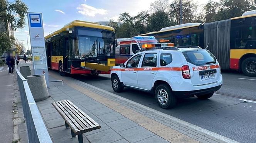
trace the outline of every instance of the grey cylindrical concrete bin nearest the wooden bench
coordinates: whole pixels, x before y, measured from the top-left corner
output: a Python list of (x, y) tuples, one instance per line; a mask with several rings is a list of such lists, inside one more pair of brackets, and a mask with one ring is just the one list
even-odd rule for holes
[(44, 75), (27, 76), (27, 82), (35, 101), (41, 101), (48, 98), (49, 93)]

